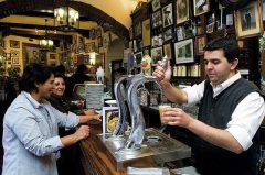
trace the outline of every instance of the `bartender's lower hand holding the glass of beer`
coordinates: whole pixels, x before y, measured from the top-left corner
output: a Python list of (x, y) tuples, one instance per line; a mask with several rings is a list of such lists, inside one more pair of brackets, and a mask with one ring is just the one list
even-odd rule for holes
[(194, 119), (180, 108), (165, 108), (163, 120), (167, 121), (169, 125), (188, 128)]

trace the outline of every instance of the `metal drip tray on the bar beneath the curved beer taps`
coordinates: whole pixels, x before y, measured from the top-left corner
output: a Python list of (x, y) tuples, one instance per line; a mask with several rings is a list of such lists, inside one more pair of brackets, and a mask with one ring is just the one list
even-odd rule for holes
[(191, 156), (191, 149), (153, 128), (146, 129), (145, 139), (139, 149), (124, 149), (128, 135), (113, 136), (98, 134), (109, 158), (116, 164), (117, 171), (134, 165), (145, 158), (153, 158), (156, 163), (178, 161)]

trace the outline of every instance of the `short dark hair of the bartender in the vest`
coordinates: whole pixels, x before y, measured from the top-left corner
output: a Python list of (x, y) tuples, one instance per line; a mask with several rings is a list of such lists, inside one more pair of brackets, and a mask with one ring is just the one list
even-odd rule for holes
[(237, 41), (232, 37), (218, 37), (210, 41), (204, 51), (215, 51), (223, 50), (224, 56), (227, 58), (229, 63), (233, 62), (235, 58), (239, 58), (240, 47)]

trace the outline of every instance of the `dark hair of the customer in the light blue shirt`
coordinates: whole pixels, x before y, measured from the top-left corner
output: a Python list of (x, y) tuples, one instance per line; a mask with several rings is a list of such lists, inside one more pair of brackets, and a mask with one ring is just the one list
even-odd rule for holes
[(30, 64), (24, 68), (19, 80), (19, 91), (38, 92), (35, 84), (44, 84), (52, 75), (52, 69), (40, 64)]

